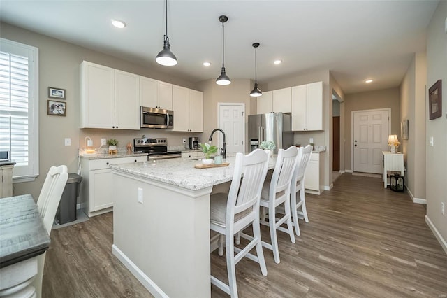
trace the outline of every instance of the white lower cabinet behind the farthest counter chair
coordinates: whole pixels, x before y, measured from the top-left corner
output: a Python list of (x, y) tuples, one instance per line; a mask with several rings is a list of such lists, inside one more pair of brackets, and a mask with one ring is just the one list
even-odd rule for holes
[(312, 152), (305, 173), (305, 191), (321, 194), (324, 191), (324, 155), (323, 152)]

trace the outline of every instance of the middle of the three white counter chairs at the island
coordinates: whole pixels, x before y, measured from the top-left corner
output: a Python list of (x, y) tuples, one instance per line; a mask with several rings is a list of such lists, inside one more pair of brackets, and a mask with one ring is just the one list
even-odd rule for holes
[[(261, 214), (261, 223), (270, 227), (271, 244), (263, 241), (263, 246), (273, 250), (274, 262), (279, 264), (279, 250), (277, 229), (286, 232), (291, 236), (292, 243), (295, 243), (295, 235), (293, 234), (291, 220), (291, 180), (292, 173), (295, 170), (297, 162), (298, 150), (295, 146), (291, 146), (287, 150), (279, 149), (277, 163), (274, 166), (272, 179), (265, 181), (261, 192), (261, 206), (263, 213)], [(282, 218), (276, 218), (276, 209), (284, 204), (285, 215)], [(265, 208), (268, 208), (268, 222), (265, 221)], [(286, 222), (287, 229), (281, 227)]]

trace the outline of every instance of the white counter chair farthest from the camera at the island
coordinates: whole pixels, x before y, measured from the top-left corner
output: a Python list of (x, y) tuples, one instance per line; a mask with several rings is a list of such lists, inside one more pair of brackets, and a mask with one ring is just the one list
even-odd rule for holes
[[(292, 183), (291, 183), (291, 212), (293, 225), (295, 225), (295, 233), (300, 236), (300, 226), (298, 224), (298, 218), (303, 218), (305, 222), (309, 222), (306, 209), (306, 194), (305, 194), (305, 172), (309, 159), (312, 155), (312, 146), (307, 145), (304, 148), (300, 148), (298, 152), (298, 162), (293, 171)], [(300, 192), (300, 201), (297, 203), (297, 192)], [(301, 209), (301, 211), (300, 211)]]

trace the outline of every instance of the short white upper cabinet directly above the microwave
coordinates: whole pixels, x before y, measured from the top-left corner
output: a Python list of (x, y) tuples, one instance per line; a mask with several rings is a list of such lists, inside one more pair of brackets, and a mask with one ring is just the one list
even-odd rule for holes
[(173, 109), (173, 85), (140, 77), (140, 106)]

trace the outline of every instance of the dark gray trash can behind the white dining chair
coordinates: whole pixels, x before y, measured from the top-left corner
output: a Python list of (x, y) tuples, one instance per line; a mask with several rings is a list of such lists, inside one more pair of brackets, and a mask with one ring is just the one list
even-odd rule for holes
[(82, 176), (76, 173), (68, 174), (68, 180), (56, 213), (56, 220), (60, 225), (76, 220), (76, 201), (79, 196), (81, 181)]

